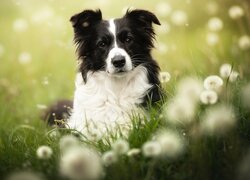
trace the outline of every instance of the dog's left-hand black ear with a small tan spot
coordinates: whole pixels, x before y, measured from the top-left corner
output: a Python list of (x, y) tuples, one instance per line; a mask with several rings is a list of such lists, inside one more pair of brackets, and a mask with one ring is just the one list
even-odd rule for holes
[(102, 20), (102, 12), (100, 9), (93, 10), (84, 10), (81, 13), (75, 14), (70, 18), (70, 22), (74, 28), (82, 27), (88, 28), (91, 25), (95, 24)]

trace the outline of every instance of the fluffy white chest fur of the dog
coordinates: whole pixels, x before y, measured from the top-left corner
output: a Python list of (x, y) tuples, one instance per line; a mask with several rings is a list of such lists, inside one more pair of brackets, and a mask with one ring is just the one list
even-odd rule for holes
[(105, 133), (117, 125), (129, 125), (129, 115), (142, 103), (151, 87), (147, 70), (142, 66), (122, 77), (110, 76), (106, 72), (89, 72), (86, 84), (78, 74), (68, 125), (84, 134), (91, 133), (91, 129)]

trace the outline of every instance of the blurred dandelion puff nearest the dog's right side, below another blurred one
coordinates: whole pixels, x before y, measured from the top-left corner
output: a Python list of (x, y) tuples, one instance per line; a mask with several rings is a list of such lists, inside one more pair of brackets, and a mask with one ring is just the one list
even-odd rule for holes
[(196, 104), (189, 98), (176, 97), (164, 109), (166, 120), (172, 124), (190, 123), (194, 120)]

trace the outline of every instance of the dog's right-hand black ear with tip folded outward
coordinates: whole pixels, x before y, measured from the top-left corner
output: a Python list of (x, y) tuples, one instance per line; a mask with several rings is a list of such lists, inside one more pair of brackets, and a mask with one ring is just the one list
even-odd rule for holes
[(125, 17), (137, 21), (140, 24), (144, 24), (144, 25), (149, 25), (152, 26), (152, 24), (157, 24), (157, 25), (161, 25), (160, 21), (158, 20), (158, 18), (149, 11), (146, 10), (140, 10), (140, 9), (136, 9), (136, 10), (127, 10), (127, 13), (125, 14)]

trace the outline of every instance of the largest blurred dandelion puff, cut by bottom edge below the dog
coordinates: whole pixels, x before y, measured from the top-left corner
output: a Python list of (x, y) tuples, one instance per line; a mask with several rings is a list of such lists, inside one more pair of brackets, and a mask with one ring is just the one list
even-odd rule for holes
[(87, 147), (75, 147), (64, 153), (60, 172), (70, 179), (98, 179), (102, 175), (101, 158)]

